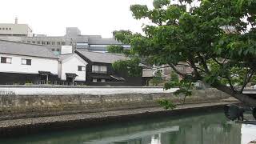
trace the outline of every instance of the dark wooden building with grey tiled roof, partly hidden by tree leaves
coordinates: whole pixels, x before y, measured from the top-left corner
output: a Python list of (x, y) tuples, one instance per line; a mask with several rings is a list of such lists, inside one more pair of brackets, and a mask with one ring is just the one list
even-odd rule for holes
[(74, 52), (88, 63), (86, 65), (87, 85), (142, 86), (142, 76), (130, 77), (112, 67), (114, 62), (129, 59), (124, 55), (90, 50), (75, 50)]

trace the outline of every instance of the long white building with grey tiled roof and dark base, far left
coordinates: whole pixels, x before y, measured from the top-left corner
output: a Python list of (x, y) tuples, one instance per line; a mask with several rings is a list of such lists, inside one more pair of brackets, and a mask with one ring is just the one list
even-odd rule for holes
[(46, 46), (0, 40), (0, 83), (44, 83), (58, 78), (58, 57)]

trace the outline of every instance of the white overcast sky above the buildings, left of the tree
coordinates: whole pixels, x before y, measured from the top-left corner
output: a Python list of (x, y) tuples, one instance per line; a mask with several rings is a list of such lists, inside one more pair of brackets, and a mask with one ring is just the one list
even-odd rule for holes
[(82, 34), (111, 38), (114, 30), (141, 32), (143, 22), (134, 20), (132, 4), (152, 6), (153, 0), (3, 0), (0, 22), (27, 23), (34, 34), (64, 35), (66, 27)]

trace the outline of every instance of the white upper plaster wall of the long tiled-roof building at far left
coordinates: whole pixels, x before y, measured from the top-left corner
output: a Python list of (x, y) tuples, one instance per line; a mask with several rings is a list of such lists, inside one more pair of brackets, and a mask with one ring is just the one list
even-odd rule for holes
[[(0, 72), (38, 74), (38, 71), (50, 71), (52, 74), (58, 74), (58, 59), (13, 54), (0, 54), (0, 57), (12, 58), (11, 64), (0, 62)], [(31, 65), (22, 65), (22, 58), (31, 59)]]

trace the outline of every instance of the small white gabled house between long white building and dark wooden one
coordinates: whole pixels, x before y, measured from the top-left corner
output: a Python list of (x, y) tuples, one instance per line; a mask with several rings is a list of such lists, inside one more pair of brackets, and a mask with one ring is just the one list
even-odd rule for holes
[(86, 65), (88, 63), (78, 54), (59, 55), (58, 78), (72, 85), (74, 82), (86, 83)]

